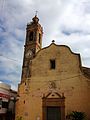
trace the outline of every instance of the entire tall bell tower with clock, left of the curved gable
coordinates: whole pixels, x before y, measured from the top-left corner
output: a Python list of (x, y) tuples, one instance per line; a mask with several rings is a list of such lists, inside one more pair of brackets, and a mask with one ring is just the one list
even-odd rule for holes
[(42, 48), (43, 28), (39, 24), (39, 18), (35, 15), (32, 21), (27, 24), (26, 41), (24, 46), (24, 58), (22, 67), (22, 80), (31, 76), (31, 61), (36, 53)]

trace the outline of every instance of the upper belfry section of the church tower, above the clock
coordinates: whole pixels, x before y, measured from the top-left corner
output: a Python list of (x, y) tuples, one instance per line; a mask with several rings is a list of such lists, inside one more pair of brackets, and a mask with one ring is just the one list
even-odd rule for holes
[(32, 18), (32, 22), (27, 24), (26, 28), (26, 43), (27, 49), (31, 49), (33, 55), (35, 55), (42, 47), (42, 34), (43, 30), (39, 24), (39, 18), (35, 15)]

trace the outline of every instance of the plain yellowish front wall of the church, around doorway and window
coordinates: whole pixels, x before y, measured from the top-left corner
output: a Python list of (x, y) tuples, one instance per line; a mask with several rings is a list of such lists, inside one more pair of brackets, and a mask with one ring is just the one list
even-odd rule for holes
[[(56, 69), (50, 69), (50, 59), (55, 59)], [(42, 49), (32, 60), (31, 77), (19, 85), (16, 102), (16, 118), (42, 120), (42, 96), (51, 90), (65, 95), (65, 113), (77, 110), (85, 112), (90, 119), (90, 82), (81, 72), (79, 54), (64, 45), (52, 43)], [(54, 81), (56, 88), (51, 89)]]

